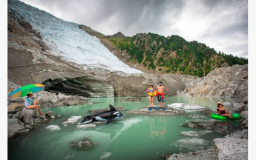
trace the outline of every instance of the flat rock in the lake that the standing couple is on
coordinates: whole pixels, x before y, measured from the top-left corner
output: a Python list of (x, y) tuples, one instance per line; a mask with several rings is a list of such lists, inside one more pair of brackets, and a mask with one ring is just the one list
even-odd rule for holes
[(137, 110), (129, 110), (126, 113), (131, 113), (131, 114), (137, 114), (137, 115), (160, 115), (160, 116), (175, 116), (175, 115), (182, 115), (186, 113), (186, 111), (183, 110), (175, 110), (171, 108), (166, 108), (166, 110), (148, 110), (148, 107), (142, 107)]

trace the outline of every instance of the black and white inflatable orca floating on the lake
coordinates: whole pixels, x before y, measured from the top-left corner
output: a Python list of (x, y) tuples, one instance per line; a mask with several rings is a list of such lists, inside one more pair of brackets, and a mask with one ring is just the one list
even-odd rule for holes
[(93, 116), (91, 115), (85, 116), (84, 119), (81, 121), (81, 124), (88, 124), (88, 123), (91, 123), (92, 121), (107, 121), (106, 124), (110, 124), (116, 119), (124, 118), (123, 114), (120, 111), (116, 110), (114, 106), (109, 104), (109, 107), (111, 110), (97, 113)]

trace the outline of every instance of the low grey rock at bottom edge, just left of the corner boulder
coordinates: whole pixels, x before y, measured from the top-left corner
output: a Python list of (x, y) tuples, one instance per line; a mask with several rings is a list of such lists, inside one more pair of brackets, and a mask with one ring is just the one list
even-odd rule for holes
[(190, 153), (174, 153), (171, 156), (168, 157), (167, 160), (203, 160), (203, 159), (217, 159), (216, 154), (214, 153), (214, 150), (208, 149), (208, 150), (200, 150), (196, 152), (190, 152)]

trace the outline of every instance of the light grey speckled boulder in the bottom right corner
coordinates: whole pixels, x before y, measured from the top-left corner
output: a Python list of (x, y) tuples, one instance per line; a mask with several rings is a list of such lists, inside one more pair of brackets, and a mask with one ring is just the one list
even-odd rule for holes
[(248, 159), (247, 139), (214, 139), (212, 144), (217, 159)]

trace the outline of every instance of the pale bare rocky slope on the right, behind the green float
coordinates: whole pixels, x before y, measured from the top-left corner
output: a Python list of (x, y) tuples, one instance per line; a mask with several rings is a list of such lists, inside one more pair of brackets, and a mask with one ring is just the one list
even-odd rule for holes
[(247, 99), (248, 65), (234, 65), (212, 70), (206, 77), (191, 81), (178, 96), (226, 96)]

